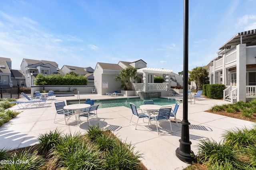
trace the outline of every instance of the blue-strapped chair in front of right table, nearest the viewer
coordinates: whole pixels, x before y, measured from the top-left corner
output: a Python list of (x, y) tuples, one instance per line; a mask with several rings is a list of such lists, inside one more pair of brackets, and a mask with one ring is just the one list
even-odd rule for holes
[(158, 114), (157, 115), (150, 113), (150, 118), (149, 118), (149, 121), (148, 121), (148, 126), (149, 126), (149, 123), (151, 124), (151, 119), (156, 121), (156, 131), (157, 131), (157, 134), (159, 135), (157, 122), (168, 120), (168, 121), (170, 121), (170, 127), (171, 127), (171, 131), (172, 131), (172, 123), (171, 123), (171, 120), (170, 120), (171, 111), (172, 111), (172, 107), (168, 106), (168, 107), (161, 107), (158, 110)]

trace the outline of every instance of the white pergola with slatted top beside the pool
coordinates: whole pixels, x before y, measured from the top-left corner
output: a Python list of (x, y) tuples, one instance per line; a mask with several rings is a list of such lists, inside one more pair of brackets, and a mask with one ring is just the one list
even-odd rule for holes
[[(148, 75), (149, 74), (166, 74), (168, 75), (168, 90), (171, 88), (171, 73), (172, 70), (170, 69), (163, 69), (163, 68), (140, 68), (137, 70), (138, 74), (143, 74), (143, 87), (146, 88), (148, 86)], [(154, 78), (154, 77), (153, 77)], [(146, 89), (143, 89), (143, 91), (146, 91)]]

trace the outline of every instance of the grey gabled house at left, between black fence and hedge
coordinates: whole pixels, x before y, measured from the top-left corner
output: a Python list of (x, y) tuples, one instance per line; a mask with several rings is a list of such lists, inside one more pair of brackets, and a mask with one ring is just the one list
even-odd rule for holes
[(54, 61), (45, 60), (33, 60), (33, 59), (23, 59), (20, 65), (20, 69), (25, 75), (25, 82), (27, 87), (33, 85), (34, 78), (37, 74), (62, 74), (64, 73), (58, 68), (58, 64)]

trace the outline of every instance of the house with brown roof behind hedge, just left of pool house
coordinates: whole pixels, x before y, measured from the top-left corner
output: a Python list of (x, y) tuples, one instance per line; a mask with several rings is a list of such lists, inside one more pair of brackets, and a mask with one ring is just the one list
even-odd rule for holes
[(75, 72), (78, 75), (85, 76), (88, 79), (87, 85), (94, 85), (94, 69), (92, 67), (76, 67), (76, 66), (68, 66), (64, 65), (61, 68), (64, 74), (69, 73), (70, 71)]

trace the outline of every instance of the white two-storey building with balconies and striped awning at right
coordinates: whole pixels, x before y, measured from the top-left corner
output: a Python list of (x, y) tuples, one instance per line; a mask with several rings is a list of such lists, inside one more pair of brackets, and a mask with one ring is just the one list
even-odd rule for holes
[(210, 84), (225, 84), (230, 102), (256, 98), (256, 29), (237, 33), (211, 61)]

